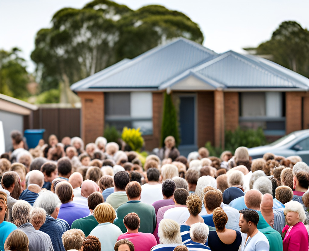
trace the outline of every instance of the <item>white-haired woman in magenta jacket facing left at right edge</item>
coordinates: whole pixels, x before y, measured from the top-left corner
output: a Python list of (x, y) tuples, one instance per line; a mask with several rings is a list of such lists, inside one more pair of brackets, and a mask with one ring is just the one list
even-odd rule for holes
[(297, 201), (287, 202), (284, 208), (287, 225), (283, 228), (283, 251), (308, 251), (308, 232), (303, 224), (306, 220), (302, 204)]

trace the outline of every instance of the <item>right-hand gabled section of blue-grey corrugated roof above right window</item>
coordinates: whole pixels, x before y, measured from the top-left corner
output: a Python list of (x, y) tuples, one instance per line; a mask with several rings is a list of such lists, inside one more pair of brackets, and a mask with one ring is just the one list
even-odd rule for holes
[(269, 60), (227, 51), (196, 67), (193, 72), (210, 78), (225, 88), (302, 88), (309, 80)]

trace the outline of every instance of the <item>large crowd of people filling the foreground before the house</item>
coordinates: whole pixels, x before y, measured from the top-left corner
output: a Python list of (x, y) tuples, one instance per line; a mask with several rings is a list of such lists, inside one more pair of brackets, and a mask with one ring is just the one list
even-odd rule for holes
[(0, 251), (308, 251), (309, 167), (299, 156), (143, 158), (98, 137), (34, 149), (18, 131), (0, 158)]

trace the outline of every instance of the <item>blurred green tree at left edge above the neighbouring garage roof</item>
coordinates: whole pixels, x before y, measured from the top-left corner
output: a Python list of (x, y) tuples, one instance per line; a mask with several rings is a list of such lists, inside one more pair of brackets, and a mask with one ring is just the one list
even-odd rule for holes
[(0, 50), (0, 93), (24, 98), (28, 96), (27, 84), (29, 82), (25, 60), (19, 56), (20, 50)]

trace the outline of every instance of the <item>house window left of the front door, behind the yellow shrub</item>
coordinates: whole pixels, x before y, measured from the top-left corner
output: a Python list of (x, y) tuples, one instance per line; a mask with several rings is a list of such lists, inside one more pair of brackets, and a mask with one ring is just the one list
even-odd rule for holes
[(105, 123), (122, 131), (123, 127), (140, 128), (152, 134), (152, 93), (104, 93)]

